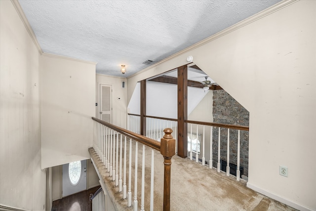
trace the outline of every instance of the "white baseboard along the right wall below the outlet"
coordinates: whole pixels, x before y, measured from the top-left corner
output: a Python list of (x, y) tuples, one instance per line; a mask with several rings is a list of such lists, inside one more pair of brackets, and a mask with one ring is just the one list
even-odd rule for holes
[(265, 195), (267, 197), (270, 197), (270, 198), (272, 198), (272, 199), (274, 199), (276, 201), (279, 201), (279, 202), (281, 202), (283, 204), (286, 204), (286, 205), (288, 205), (288, 206), (290, 206), (292, 208), (295, 208), (297, 210), (300, 210), (300, 211), (315, 211), (312, 208), (308, 208), (308, 207), (305, 207), (303, 205), (297, 204), (297, 203), (295, 203), (295, 202), (293, 202), (293, 201), (291, 201), (289, 199), (286, 199), (286, 198), (281, 197), (281, 196), (279, 196), (277, 194), (271, 193), (271, 192), (269, 192), (269, 191), (267, 191), (265, 189), (259, 188), (259, 187), (255, 186), (255, 185), (253, 185), (253, 184), (251, 184), (249, 182), (247, 182), (247, 187), (252, 189), (252, 190), (254, 190), (254, 191), (257, 191), (257, 192), (259, 192), (259, 193), (261, 193), (261, 194), (263, 194), (263, 195)]

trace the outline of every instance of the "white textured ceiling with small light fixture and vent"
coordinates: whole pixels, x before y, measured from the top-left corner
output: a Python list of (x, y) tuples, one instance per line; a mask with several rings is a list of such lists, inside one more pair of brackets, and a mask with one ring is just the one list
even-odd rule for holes
[[(45, 53), (128, 77), (280, 0), (19, 0)], [(155, 63), (154, 62), (154, 63)], [(152, 63), (152, 64), (154, 64)], [(126, 74), (120, 65), (126, 65)]]

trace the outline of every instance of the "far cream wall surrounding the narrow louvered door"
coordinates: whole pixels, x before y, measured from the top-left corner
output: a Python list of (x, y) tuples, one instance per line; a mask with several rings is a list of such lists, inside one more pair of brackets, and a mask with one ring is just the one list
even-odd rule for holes
[[(96, 101), (99, 103), (99, 84), (112, 85), (112, 124), (118, 127), (127, 127), (127, 82), (126, 78), (106, 76), (96, 74)], [(122, 87), (122, 82), (125, 83), (125, 87)], [(118, 100), (120, 97), (120, 100)], [(96, 117), (98, 117), (98, 106), (96, 107)]]

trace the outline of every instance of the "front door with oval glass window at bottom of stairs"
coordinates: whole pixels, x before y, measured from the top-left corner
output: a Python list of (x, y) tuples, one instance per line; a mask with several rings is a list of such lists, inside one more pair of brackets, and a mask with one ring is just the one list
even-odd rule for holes
[(62, 197), (87, 189), (87, 161), (64, 164), (62, 170)]

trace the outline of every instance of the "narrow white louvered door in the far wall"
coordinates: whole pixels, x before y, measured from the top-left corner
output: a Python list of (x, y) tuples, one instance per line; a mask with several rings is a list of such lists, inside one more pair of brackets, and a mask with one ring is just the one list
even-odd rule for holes
[(112, 85), (100, 84), (99, 119), (112, 123)]

